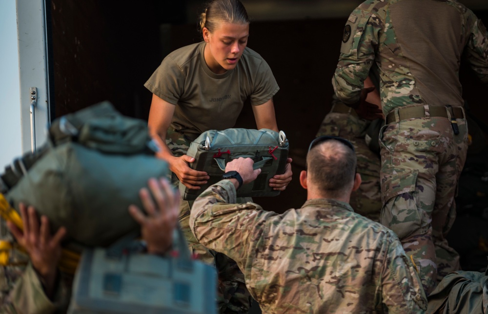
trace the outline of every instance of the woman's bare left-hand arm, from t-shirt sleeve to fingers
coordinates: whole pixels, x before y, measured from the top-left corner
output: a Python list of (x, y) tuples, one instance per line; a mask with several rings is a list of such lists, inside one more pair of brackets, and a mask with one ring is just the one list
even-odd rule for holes
[(149, 110), (148, 127), (151, 136), (158, 142), (161, 148), (157, 156), (169, 164), (178, 179), (190, 189), (200, 189), (199, 185), (206, 183), (209, 176), (204, 171), (193, 170), (188, 163), (195, 161), (195, 158), (183, 155), (176, 157), (166, 145), (166, 133), (175, 112), (175, 105), (168, 103), (153, 94), (151, 109)]

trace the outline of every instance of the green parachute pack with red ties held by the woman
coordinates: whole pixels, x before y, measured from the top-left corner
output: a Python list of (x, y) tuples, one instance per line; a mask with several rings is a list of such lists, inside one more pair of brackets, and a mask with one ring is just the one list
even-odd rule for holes
[(269, 186), (269, 179), (285, 172), (288, 150), (283, 131), (240, 128), (205, 131), (190, 143), (186, 154), (195, 158), (190, 167), (205, 171), (210, 179), (198, 190), (180, 183), (180, 193), (184, 200), (195, 200), (207, 187), (222, 179), (228, 162), (248, 157), (254, 160), (254, 169), (261, 168), (261, 173), (253, 182), (241, 186), (237, 197), (276, 196), (280, 191)]

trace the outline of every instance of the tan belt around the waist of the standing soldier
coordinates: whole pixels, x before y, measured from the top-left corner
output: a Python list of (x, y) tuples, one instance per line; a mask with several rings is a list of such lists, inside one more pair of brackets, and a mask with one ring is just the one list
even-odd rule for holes
[[(424, 106), (415, 106), (407, 108), (399, 108), (391, 111), (386, 115), (386, 124), (397, 121), (395, 118), (395, 112), (398, 112), (398, 121), (413, 119), (413, 118), (428, 118), (428, 117), (444, 117), (455, 119), (466, 118), (464, 110), (462, 107), (451, 107), (451, 106), (428, 106), (428, 116), (426, 115), (426, 108)], [(447, 115), (449, 111), (450, 116)]]

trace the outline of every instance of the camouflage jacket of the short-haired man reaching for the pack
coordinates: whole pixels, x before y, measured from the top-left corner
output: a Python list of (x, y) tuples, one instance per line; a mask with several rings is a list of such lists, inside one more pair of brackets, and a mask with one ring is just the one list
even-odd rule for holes
[(427, 297), (395, 234), (329, 199), (283, 214), (236, 204), (224, 180), (195, 201), (190, 227), (234, 259), (263, 313), (423, 313)]

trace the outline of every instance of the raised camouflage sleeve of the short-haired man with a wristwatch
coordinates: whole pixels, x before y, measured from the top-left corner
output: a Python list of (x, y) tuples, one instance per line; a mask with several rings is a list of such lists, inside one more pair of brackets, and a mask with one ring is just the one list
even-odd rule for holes
[(235, 202), (236, 190), (229, 180), (208, 187), (193, 204), (190, 228), (205, 247), (224, 253), (242, 266), (253, 229), (264, 221), (266, 212), (255, 203)]

